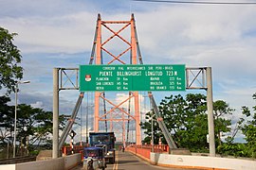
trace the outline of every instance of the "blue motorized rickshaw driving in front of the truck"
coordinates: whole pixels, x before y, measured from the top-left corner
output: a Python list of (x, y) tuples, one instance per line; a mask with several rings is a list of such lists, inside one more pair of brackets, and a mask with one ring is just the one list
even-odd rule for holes
[(83, 168), (104, 170), (106, 168), (104, 154), (104, 148), (102, 147), (85, 147), (83, 149)]

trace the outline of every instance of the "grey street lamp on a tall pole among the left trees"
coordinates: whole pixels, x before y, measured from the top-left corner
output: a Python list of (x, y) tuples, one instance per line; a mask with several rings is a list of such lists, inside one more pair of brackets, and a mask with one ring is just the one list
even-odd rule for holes
[(27, 81), (17, 81), (15, 84), (15, 116), (14, 116), (14, 139), (13, 139), (13, 158), (15, 158), (16, 155), (16, 122), (17, 122), (17, 103), (18, 103), (18, 85), (19, 84), (27, 84), (30, 83), (29, 80)]

